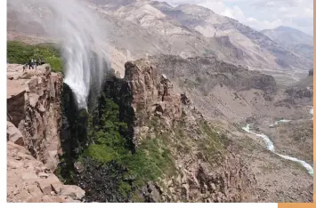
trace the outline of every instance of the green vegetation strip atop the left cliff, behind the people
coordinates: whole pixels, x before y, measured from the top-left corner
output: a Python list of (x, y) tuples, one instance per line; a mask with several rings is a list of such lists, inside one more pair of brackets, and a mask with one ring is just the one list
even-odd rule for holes
[(7, 60), (10, 63), (25, 64), (30, 59), (42, 59), (55, 72), (62, 72), (61, 52), (53, 44), (24, 44), (19, 41), (7, 42)]

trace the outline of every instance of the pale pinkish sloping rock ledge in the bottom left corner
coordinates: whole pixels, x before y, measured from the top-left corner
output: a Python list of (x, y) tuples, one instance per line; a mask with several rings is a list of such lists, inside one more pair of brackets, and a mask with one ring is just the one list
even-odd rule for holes
[(85, 191), (62, 182), (17, 144), (7, 143), (7, 201), (15, 203), (81, 202)]

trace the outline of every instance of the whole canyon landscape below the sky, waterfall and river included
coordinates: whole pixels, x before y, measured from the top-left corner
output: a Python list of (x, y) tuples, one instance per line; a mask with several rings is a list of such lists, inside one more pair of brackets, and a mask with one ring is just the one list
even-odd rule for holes
[(193, 4), (72, 4), (8, 3), (8, 202), (312, 202), (309, 36)]

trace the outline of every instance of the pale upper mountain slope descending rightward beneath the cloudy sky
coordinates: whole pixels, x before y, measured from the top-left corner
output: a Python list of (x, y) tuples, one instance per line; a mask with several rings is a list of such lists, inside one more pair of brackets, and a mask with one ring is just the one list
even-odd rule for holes
[(306, 64), (301, 57), (288, 52), (262, 33), (202, 6), (182, 4), (173, 8), (159, 2), (153, 2), (152, 5), (204, 36), (229, 36), (232, 44), (246, 53), (246, 59), (253, 67), (260, 67), (260, 65), (255, 66), (253, 62), (269, 63), (271, 68), (311, 68), (312, 66), (311, 61)]

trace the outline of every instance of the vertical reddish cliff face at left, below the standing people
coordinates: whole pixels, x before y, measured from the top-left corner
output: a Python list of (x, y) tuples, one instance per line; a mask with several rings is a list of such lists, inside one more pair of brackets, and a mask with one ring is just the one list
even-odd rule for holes
[(8, 120), (24, 136), (24, 146), (36, 159), (55, 170), (61, 129), (62, 76), (48, 65), (22, 71), (21, 65), (7, 69)]

